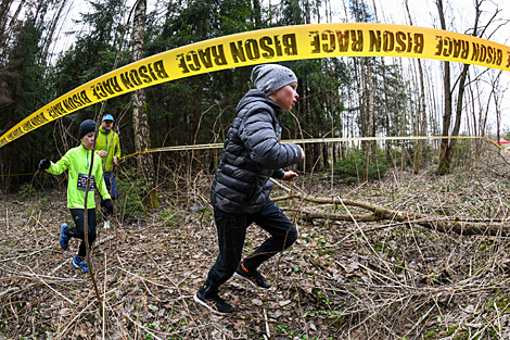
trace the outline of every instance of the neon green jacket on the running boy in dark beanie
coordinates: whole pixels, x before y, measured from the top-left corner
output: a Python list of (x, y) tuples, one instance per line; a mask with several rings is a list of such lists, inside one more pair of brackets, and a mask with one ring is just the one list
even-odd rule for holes
[[(111, 199), (106, 186), (104, 185), (101, 158), (92, 153), (91, 150), (85, 149), (82, 146), (71, 149), (59, 162), (51, 162), (50, 167), (47, 169), (48, 173), (53, 175), (60, 175), (65, 169), (69, 171), (69, 180), (67, 182), (67, 207), (69, 209), (85, 209), (85, 185), (87, 176), (89, 175), (92, 154), (94, 155), (94, 160), (91, 176), (94, 181), (97, 180), (97, 187), (103, 200)], [(90, 180), (87, 209), (95, 207), (93, 190), (94, 185)]]

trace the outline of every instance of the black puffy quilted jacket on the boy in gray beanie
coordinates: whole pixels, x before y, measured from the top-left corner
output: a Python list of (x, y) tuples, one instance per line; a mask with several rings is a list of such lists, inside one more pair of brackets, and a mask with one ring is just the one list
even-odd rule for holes
[(271, 192), (269, 177), (282, 178), (282, 167), (299, 162), (296, 144), (280, 144), (280, 106), (253, 89), (239, 102), (225, 140), (211, 190), (214, 206), (232, 214), (258, 212)]

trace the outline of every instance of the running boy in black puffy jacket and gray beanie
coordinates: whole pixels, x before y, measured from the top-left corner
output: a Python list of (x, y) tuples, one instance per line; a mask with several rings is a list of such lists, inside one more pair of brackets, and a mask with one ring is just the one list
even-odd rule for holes
[[(297, 238), (296, 228), (269, 199), (269, 177), (293, 181), (297, 174), (283, 168), (305, 158), (299, 146), (280, 143), (279, 118), (282, 110), (291, 110), (297, 101), (297, 78), (288, 67), (265, 64), (253, 68), (252, 81), (256, 89), (250, 90), (235, 109), (211, 190), (219, 254), (194, 295), (194, 301), (219, 314), (234, 310), (218, 295), (222, 284), (234, 275), (260, 289), (269, 288), (258, 266)], [(241, 261), (246, 228), (252, 223), (271, 236)]]

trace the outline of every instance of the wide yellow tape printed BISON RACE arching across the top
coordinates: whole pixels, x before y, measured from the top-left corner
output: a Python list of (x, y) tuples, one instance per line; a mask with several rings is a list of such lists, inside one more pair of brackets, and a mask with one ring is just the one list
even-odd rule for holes
[(332, 56), (436, 59), (510, 71), (509, 47), (434, 28), (343, 23), (245, 32), (152, 55), (81, 85), (7, 131), (0, 148), (49, 122), (137, 89), (232, 67)]

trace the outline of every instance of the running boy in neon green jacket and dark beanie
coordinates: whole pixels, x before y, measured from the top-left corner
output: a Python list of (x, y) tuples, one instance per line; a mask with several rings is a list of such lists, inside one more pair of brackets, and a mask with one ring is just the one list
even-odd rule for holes
[[(87, 255), (85, 243), (85, 194), (87, 177), (89, 168), (93, 160), (93, 167), (91, 178), (89, 180), (89, 194), (87, 197), (87, 217), (88, 217), (88, 241), (92, 247), (95, 240), (95, 202), (94, 202), (94, 188), (99, 189), (104, 202), (102, 206), (113, 214), (113, 203), (110, 193), (106, 191), (106, 186), (103, 179), (103, 171), (101, 159), (92, 152), (93, 139), (95, 135), (95, 122), (91, 119), (84, 121), (79, 126), (79, 139), (81, 144), (79, 147), (68, 150), (64, 156), (56, 163), (51, 162), (49, 159), (43, 159), (39, 162), (39, 169), (46, 169), (53, 175), (60, 175), (65, 169), (68, 169), (67, 182), (67, 207), (71, 210), (71, 215), (76, 224), (76, 227), (71, 228), (66, 224), (62, 225), (60, 244), (63, 250), (67, 250), (69, 239), (75, 237), (81, 240), (78, 254), (73, 259), (73, 264), (80, 268), (82, 272), (88, 272), (89, 267), (84, 261)], [(95, 179), (98, 180), (95, 182)]]

